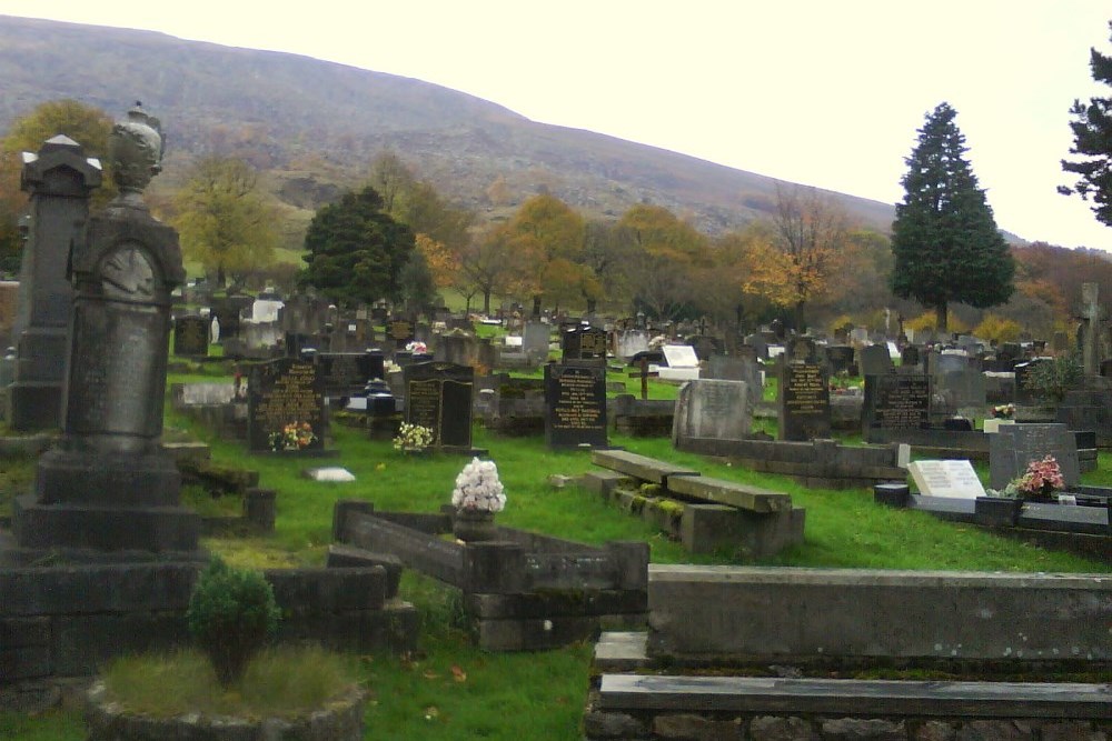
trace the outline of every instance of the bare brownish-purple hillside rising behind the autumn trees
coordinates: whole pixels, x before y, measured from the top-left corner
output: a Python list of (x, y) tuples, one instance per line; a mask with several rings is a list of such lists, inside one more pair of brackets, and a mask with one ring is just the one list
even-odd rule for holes
[[(142, 100), (167, 131), (169, 179), (175, 163), (234, 152), (278, 180), (295, 179), (292, 190), (302, 197), (317, 191), (327, 198), (331, 186), (354, 184), (374, 156), (389, 149), (441, 192), (488, 217), (497, 209), (487, 191), (500, 178), (510, 204), (540, 189), (593, 216), (651, 202), (717, 233), (766, 212), (776, 182), (536, 123), (419, 80), (149, 31), (0, 16), (0, 131), (59, 98), (116, 117)], [(281, 182), (275, 188), (284, 190)], [(838, 198), (854, 220), (888, 228), (891, 204)]]

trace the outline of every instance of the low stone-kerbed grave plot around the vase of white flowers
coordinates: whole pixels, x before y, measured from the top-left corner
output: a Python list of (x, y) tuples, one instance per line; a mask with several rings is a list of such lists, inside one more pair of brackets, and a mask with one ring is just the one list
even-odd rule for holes
[(479, 648), (553, 649), (593, 638), (607, 625), (647, 618), (648, 544), (598, 548), (513, 528), (498, 540), (463, 542), (453, 514), (375, 512), (336, 505), (332, 540), (438, 579), (464, 593), (464, 610)]

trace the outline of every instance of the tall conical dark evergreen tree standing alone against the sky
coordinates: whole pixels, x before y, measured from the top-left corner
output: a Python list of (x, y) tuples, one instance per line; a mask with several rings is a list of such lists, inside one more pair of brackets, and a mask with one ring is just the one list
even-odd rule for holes
[(890, 284), (900, 298), (931, 307), (946, 329), (951, 302), (979, 309), (1012, 296), (1015, 263), (992, 209), (965, 160), (956, 111), (941, 103), (919, 130), (892, 224), (895, 263)]

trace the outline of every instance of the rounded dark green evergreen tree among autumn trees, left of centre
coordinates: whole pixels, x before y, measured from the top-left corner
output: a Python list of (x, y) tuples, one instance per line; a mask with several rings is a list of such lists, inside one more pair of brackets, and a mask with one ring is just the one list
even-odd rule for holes
[(414, 234), (383, 211), (369, 186), (322, 207), (309, 222), (300, 283), (341, 306), (401, 298), (401, 270), (414, 252)]

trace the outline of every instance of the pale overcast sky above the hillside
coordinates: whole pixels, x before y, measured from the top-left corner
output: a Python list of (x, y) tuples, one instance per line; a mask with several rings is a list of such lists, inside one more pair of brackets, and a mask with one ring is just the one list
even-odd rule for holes
[(1112, 251), (1070, 183), (1069, 109), (1109, 97), (1098, 0), (0, 0), (418, 78), (535, 121), (895, 203), (923, 117), (957, 111), (1002, 229)]

